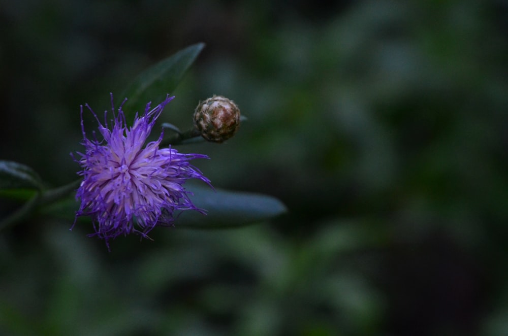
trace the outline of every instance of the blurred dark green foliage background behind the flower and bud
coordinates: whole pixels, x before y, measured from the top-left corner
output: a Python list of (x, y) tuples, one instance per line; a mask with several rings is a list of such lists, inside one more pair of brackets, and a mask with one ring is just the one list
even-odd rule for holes
[(111, 252), (69, 220), (5, 230), (0, 333), (508, 334), (506, 1), (2, 0), (0, 31), (1, 159), (73, 181), (79, 105), (205, 42), (160, 121), (234, 99), (235, 138), (179, 149), (289, 209)]

